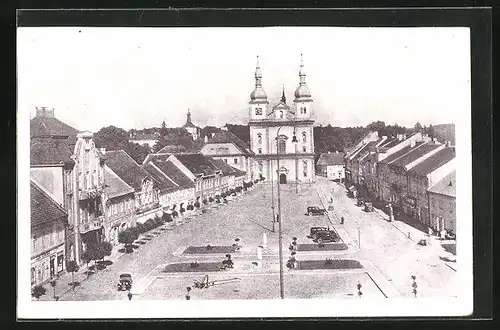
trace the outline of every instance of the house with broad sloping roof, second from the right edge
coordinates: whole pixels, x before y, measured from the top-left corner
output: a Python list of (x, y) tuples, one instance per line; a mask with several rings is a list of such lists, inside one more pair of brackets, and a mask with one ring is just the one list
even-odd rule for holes
[[(403, 203), (405, 213), (419, 219), (426, 226), (436, 225), (432, 223), (430, 217), (427, 191), (455, 168), (455, 147), (446, 145), (408, 170), (406, 172), (408, 191)], [(449, 224), (449, 221), (447, 223)]]

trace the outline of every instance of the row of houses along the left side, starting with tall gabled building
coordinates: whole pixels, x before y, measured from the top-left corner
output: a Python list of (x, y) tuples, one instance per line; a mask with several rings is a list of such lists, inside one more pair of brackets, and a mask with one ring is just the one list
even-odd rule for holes
[[(30, 126), (32, 284), (63, 271), (69, 260), (80, 263), (89, 244), (117, 244), (118, 233), (138, 222), (181, 216), (189, 205), (251, 180), (238, 168), (246, 168), (245, 160), (233, 167), (202, 153), (160, 150), (138, 164), (123, 150), (96, 148), (92, 133), (59, 121), (53, 109), (37, 109)], [(215, 141), (232, 139), (226, 131), (219, 135)]]

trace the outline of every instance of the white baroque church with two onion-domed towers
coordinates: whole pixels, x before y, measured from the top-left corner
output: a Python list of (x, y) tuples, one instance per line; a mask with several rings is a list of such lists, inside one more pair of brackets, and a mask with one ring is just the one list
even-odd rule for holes
[(314, 181), (314, 137), (311, 92), (306, 84), (304, 64), (300, 60), (299, 85), (293, 105), (287, 104), (285, 92), (275, 106), (270, 106), (262, 87), (262, 72), (257, 56), (255, 89), (250, 94), (250, 148), (254, 179), (286, 183)]

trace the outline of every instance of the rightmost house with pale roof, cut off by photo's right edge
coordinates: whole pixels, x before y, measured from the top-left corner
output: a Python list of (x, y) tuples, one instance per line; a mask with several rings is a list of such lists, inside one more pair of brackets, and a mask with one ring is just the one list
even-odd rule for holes
[(428, 190), (430, 227), (456, 233), (456, 171), (452, 171)]

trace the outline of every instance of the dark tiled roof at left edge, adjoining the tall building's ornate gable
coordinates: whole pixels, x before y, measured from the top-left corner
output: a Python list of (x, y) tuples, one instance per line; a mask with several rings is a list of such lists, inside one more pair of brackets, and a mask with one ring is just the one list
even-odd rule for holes
[(58, 165), (71, 161), (76, 144), (76, 138), (32, 139), (30, 145), (31, 165)]

